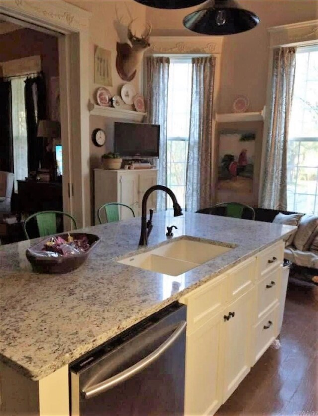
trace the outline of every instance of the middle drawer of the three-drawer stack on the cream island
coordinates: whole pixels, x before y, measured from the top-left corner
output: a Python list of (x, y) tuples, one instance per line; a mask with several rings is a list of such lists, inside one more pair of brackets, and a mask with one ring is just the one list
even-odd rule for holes
[(257, 284), (257, 319), (278, 302), (282, 266), (275, 268)]

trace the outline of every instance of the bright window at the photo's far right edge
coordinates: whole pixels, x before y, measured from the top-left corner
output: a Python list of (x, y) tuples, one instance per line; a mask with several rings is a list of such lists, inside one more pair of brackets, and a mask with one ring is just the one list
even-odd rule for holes
[(299, 48), (287, 152), (289, 211), (318, 214), (318, 45)]

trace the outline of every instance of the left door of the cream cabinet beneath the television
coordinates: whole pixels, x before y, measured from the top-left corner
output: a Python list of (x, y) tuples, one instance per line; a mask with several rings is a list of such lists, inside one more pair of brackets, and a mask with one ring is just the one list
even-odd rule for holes
[[(119, 196), (122, 204), (129, 205), (138, 216), (138, 175), (127, 172), (119, 178)], [(121, 220), (130, 219), (132, 213), (128, 208), (120, 207), (119, 217)]]

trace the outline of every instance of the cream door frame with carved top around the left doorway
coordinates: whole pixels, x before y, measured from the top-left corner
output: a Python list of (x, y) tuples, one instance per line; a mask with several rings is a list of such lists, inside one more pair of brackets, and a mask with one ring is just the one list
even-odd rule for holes
[(78, 228), (91, 224), (89, 169), (89, 20), (62, 0), (0, 0), (0, 13), (60, 34), (59, 81), (63, 146), (63, 210)]

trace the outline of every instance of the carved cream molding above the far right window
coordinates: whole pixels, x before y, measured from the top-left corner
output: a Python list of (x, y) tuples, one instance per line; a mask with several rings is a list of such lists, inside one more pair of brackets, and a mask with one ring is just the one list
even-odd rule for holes
[(268, 31), (271, 48), (318, 42), (318, 20), (270, 27)]

